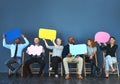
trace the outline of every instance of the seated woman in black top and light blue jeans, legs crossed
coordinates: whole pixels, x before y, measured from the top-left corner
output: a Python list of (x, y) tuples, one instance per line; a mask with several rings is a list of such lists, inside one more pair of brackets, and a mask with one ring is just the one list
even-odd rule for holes
[(115, 53), (118, 48), (118, 45), (115, 44), (115, 37), (110, 37), (109, 42), (110, 42), (109, 44), (104, 43), (104, 45), (99, 43), (100, 49), (105, 51), (104, 60), (105, 60), (105, 77), (106, 78), (109, 77), (110, 69), (112, 70), (112, 72), (115, 71), (115, 69), (113, 68), (113, 63), (117, 62)]

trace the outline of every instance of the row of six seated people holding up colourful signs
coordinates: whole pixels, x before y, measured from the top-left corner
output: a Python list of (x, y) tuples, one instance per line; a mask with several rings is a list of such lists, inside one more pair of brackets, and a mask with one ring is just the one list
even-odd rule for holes
[[(21, 35), (22, 38), (25, 40), (24, 44), (20, 43), (20, 38), (17, 38), (15, 40), (15, 44), (7, 44), (6, 43), (6, 36), (3, 34), (3, 47), (6, 47), (10, 49), (11, 51), (11, 58), (6, 61), (6, 65), (8, 68), (12, 71), (13, 74), (17, 73), (18, 70), (21, 67), (21, 59), (22, 59), (22, 51), (25, 47), (29, 45), (29, 41), (24, 35)], [(96, 59), (95, 56), (97, 56), (97, 47), (96, 43), (93, 39), (87, 40), (87, 53), (85, 54), (85, 59), (83, 59), (82, 55), (77, 55), (75, 57), (72, 56), (70, 53), (70, 45), (75, 44), (75, 40), (73, 37), (68, 38), (68, 44), (63, 46), (62, 40), (60, 38), (57, 38), (56, 40), (53, 40), (53, 46), (49, 46), (47, 41), (43, 39), (46, 48), (53, 50), (52, 57), (51, 57), (51, 65), (49, 68), (49, 71), (55, 72), (55, 77), (58, 78), (58, 64), (60, 62), (63, 62), (64, 70), (65, 70), (65, 79), (70, 79), (70, 73), (69, 73), (69, 62), (75, 62), (77, 63), (77, 78), (83, 79), (82, 77), (82, 70), (83, 70), (83, 60), (86, 62), (89, 62), (91, 65), (91, 76), (94, 76), (94, 67), (97, 71), (99, 71), (97, 65), (96, 65)], [(116, 50), (118, 48), (118, 45), (115, 44), (115, 38), (110, 37), (109, 44), (107, 43), (98, 43), (101, 50), (105, 51), (105, 57), (104, 60), (106, 62), (105, 65), (105, 77), (109, 77), (109, 71), (112, 70), (112, 72), (115, 71), (113, 68), (113, 63), (117, 61), (115, 57)], [(32, 76), (32, 72), (30, 69), (30, 64), (37, 62), (40, 64), (40, 71), (39, 75), (42, 74), (43, 69), (45, 67), (45, 49), (42, 45), (40, 45), (39, 38), (34, 38), (34, 46), (41, 46), (42, 47), (42, 53), (40, 55), (29, 55), (30, 59), (28, 59), (25, 62), (27, 75)], [(16, 67), (17, 66), (17, 67)]]

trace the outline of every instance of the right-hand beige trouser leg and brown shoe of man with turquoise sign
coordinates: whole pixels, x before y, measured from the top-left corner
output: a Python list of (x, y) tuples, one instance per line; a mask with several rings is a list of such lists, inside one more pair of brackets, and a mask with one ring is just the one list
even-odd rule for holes
[(77, 68), (78, 68), (77, 78), (82, 79), (83, 77), (81, 76), (81, 74), (82, 74), (82, 69), (83, 69), (83, 58), (76, 57), (73, 61), (77, 63)]

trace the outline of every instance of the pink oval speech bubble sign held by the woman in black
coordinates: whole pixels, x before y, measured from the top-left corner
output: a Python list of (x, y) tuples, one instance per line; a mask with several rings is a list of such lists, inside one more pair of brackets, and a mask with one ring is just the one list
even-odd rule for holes
[(110, 34), (107, 32), (97, 32), (95, 34), (95, 42), (106, 43), (110, 39)]

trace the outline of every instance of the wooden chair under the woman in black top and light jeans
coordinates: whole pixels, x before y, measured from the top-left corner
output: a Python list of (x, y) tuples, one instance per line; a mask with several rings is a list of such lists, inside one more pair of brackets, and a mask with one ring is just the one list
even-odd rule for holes
[[(103, 52), (103, 68), (104, 68), (104, 69), (105, 69), (105, 60), (104, 60), (105, 55), (106, 55), (106, 53)], [(116, 53), (115, 53), (115, 57), (116, 57), (116, 59), (117, 59)], [(119, 77), (119, 67), (118, 67), (118, 64), (119, 64), (118, 61), (115, 62), (115, 63), (113, 63), (113, 67), (114, 67), (114, 69), (115, 69), (115, 72), (112, 73), (112, 71), (109, 71), (109, 74), (117, 74), (117, 76)]]

